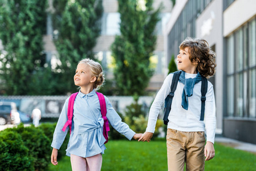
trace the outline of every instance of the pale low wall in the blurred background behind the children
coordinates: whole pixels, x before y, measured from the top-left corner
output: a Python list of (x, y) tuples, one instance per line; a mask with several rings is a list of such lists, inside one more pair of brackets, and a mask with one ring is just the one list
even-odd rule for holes
[[(132, 104), (132, 96), (107, 96), (113, 108), (124, 115), (127, 105)], [(32, 110), (38, 107), (42, 112), (42, 117), (59, 117), (63, 105), (68, 96), (0, 96), (0, 101), (12, 101), (16, 103), (19, 111), (31, 116)], [(138, 103), (143, 105), (143, 109), (149, 112), (152, 96), (140, 96)]]

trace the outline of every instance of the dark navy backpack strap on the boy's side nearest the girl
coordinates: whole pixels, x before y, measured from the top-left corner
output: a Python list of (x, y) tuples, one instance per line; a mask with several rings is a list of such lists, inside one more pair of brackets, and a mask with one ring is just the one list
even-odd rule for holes
[(165, 98), (165, 108), (164, 108), (164, 124), (165, 125), (169, 123), (168, 116), (170, 113), (174, 91), (177, 88), (178, 78), (180, 78), (180, 74), (181, 74), (181, 71), (176, 71), (173, 73), (172, 84), (170, 86), (170, 93)]

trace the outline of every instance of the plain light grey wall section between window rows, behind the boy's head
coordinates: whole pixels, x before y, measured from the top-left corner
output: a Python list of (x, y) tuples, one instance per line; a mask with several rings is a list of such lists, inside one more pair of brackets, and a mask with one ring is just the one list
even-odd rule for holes
[(216, 98), (216, 133), (222, 133), (223, 120), (223, 77), (224, 77), (224, 56), (222, 38), (222, 0), (214, 0), (201, 13), (196, 21), (196, 37), (203, 38), (212, 47), (215, 45), (216, 52), (216, 74), (214, 75), (214, 93)]

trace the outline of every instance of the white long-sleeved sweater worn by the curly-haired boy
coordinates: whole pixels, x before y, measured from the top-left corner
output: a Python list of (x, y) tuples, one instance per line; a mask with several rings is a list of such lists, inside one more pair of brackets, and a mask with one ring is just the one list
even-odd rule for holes
[[(185, 78), (195, 78), (197, 74), (185, 73)], [(170, 85), (172, 84), (173, 74), (169, 74), (162, 84), (161, 89), (156, 95), (155, 100), (151, 106), (148, 116), (148, 127), (146, 132), (155, 132), (156, 120), (164, 103), (165, 97), (170, 92)], [(214, 143), (215, 129), (216, 129), (216, 108), (215, 98), (212, 83), (208, 82), (208, 91), (206, 93), (205, 101), (205, 120), (201, 121), (201, 83), (194, 85), (193, 95), (188, 97), (188, 111), (181, 106), (181, 96), (184, 84), (178, 82), (174, 97), (172, 100), (172, 109), (169, 113), (168, 128), (176, 129), (182, 132), (201, 132), (205, 131), (207, 141)]]

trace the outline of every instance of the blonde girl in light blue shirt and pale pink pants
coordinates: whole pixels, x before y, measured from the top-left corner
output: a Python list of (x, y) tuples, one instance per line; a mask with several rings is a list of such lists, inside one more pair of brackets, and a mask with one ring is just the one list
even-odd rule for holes
[[(100, 103), (95, 89), (104, 82), (103, 70), (99, 63), (91, 59), (83, 59), (79, 62), (74, 82), (80, 87), (74, 103), (74, 115), (70, 140), (67, 146), (67, 156), (70, 156), (72, 170), (100, 170), (104, 153), (105, 139), (103, 136), (104, 120), (100, 113)], [(68, 98), (69, 99), (69, 98)], [(58, 149), (62, 145), (68, 129), (62, 131), (67, 117), (68, 99), (66, 100), (52, 140), (51, 162), (57, 165)], [(107, 119), (118, 132), (127, 139), (137, 140), (142, 134), (137, 134), (129, 129), (129, 126), (121, 121), (120, 116), (113, 109), (111, 103), (105, 97), (107, 106)]]

